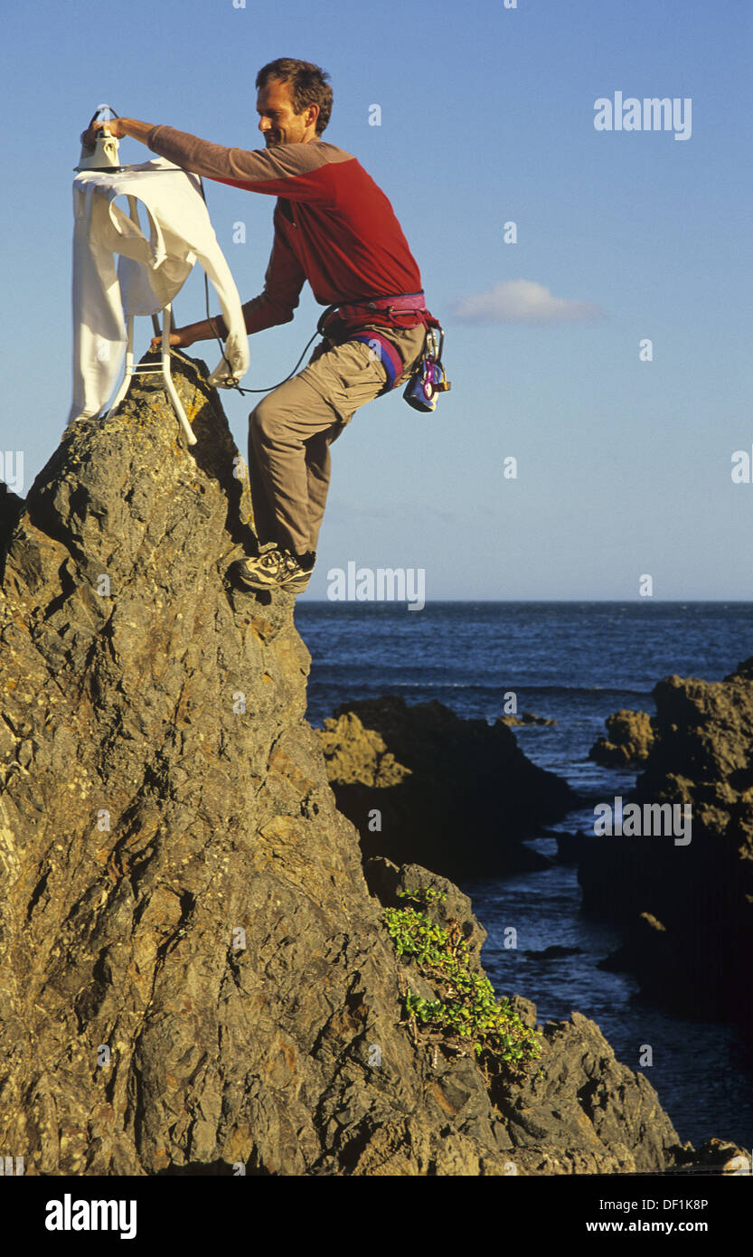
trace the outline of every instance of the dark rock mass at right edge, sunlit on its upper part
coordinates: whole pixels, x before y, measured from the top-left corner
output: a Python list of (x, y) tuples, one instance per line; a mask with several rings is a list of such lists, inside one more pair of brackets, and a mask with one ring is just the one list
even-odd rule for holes
[(722, 681), (654, 689), (655, 742), (631, 801), (678, 804), (690, 842), (585, 835), (583, 906), (620, 920), (611, 967), (690, 1016), (734, 1019), (753, 1038), (753, 657)]

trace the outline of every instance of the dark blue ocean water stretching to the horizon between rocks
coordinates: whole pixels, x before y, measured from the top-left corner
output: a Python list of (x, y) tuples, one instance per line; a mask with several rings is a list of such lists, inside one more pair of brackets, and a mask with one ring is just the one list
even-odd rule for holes
[[(750, 602), (302, 602), (295, 623), (312, 655), (308, 718), (321, 727), (348, 700), (397, 694), (437, 699), (458, 715), (493, 723), (505, 695), (554, 725), (515, 727), (529, 759), (564, 777), (591, 806), (571, 812), (532, 846), (556, 855), (556, 833), (593, 823), (593, 803), (625, 794), (635, 773), (587, 758), (620, 708), (654, 714), (664, 676), (722, 680), (753, 654)], [(753, 1144), (753, 1062), (730, 1026), (684, 1021), (642, 1002), (629, 974), (600, 970), (620, 934), (580, 911), (574, 865), (465, 882), (488, 939), (481, 960), (498, 996), (537, 1004), (539, 1021), (577, 1009), (617, 1060), (659, 1092), (681, 1140)], [(504, 948), (514, 924), (517, 949)], [(527, 955), (559, 945), (567, 957)], [(645, 1046), (651, 1047), (652, 1063)]]

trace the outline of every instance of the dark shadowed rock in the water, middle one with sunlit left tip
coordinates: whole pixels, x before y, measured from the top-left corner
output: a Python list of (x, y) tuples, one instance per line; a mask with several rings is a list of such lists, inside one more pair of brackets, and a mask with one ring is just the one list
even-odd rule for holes
[(319, 740), (337, 806), (367, 859), (459, 880), (544, 869), (549, 861), (520, 840), (577, 804), (502, 720), (463, 720), (441, 703), (344, 703)]

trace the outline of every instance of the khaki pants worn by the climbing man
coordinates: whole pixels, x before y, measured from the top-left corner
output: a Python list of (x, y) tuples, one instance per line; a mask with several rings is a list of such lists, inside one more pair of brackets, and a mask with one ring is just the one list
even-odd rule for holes
[[(416, 365), (426, 329), (419, 324), (380, 327), (380, 332), (404, 365), (397, 388)], [(308, 366), (251, 411), (249, 480), (260, 546), (277, 542), (295, 554), (316, 551), (329, 488), (329, 446), (386, 380), (378, 348), (375, 352), (363, 341), (337, 344), (324, 338)]]

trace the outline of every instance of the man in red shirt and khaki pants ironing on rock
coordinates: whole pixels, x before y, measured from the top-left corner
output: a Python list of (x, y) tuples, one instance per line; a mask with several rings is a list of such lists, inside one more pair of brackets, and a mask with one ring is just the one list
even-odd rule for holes
[[(243, 307), (249, 333), (288, 323), (307, 279), (319, 304), (334, 307), (319, 321), (324, 339), (308, 366), (249, 416), (260, 551), (236, 572), (251, 590), (307, 587), (329, 485), (329, 445), (360, 406), (410, 378), (426, 328), (439, 327), (390, 201), (352, 153), (321, 138), (332, 111), (327, 79), (319, 67), (290, 58), (259, 70), (265, 150), (225, 148), (133, 118), (107, 123), (116, 136), (132, 136), (197, 175), (277, 196), (264, 292)], [(228, 334), (220, 317), (176, 329), (170, 343), (187, 347), (215, 333)]]

